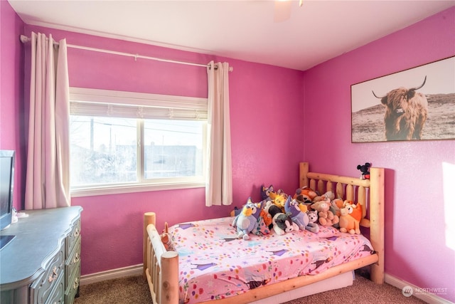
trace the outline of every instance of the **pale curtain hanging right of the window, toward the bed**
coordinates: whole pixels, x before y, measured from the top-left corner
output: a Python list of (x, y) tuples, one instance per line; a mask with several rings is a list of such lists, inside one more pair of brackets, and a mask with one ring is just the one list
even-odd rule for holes
[[(216, 67), (216, 68), (215, 68)], [(232, 204), (229, 63), (213, 63), (208, 75), (207, 182), (205, 206)]]

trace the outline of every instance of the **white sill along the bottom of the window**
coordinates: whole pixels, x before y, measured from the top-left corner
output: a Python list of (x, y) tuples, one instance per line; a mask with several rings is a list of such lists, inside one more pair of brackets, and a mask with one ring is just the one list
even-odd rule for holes
[(82, 196), (97, 196), (97, 195), (109, 195), (109, 194), (124, 194), (134, 192), (151, 192), (161, 190), (176, 190), (176, 189), (190, 189), (190, 188), (203, 188), (205, 183), (203, 182), (181, 182), (181, 183), (159, 183), (159, 184), (121, 184), (121, 185), (109, 185), (105, 187), (91, 187), (91, 188), (80, 188), (72, 189), (71, 197), (82, 197)]

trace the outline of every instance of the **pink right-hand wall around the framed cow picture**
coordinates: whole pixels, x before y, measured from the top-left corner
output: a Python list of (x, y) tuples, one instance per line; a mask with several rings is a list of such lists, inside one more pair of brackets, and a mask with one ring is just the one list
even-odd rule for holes
[[(365, 162), (387, 168), (385, 272), (422, 288), (448, 288), (439, 296), (452, 302), (455, 248), (446, 243), (455, 236), (446, 233), (444, 216), (455, 201), (451, 189), (451, 201), (444, 201), (449, 189), (443, 184), (453, 187), (455, 177), (442, 170), (444, 163), (454, 170), (455, 140), (352, 144), (350, 85), (454, 55), (452, 7), (304, 74), (304, 120), (310, 122), (304, 125), (304, 159), (316, 171), (336, 166), (337, 173), (353, 176)], [(313, 148), (318, 142), (324, 149)]]

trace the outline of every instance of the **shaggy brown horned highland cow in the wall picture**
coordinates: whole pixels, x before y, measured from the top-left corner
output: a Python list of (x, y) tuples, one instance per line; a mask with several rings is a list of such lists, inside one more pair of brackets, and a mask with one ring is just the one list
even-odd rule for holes
[(428, 116), (428, 101), (423, 93), (416, 91), (427, 81), (416, 88), (396, 88), (380, 98), (385, 106), (385, 138), (387, 140), (421, 140), (425, 121)]

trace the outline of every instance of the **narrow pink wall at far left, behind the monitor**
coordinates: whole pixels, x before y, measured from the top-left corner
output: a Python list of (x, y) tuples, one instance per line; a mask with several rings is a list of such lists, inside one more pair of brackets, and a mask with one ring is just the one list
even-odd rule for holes
[(0, 149), (16, 151), (13, 205), (21, 209), (25, 193), (25, 139), (23, 137), (23, 22), (8, 1), (0, 1)]

